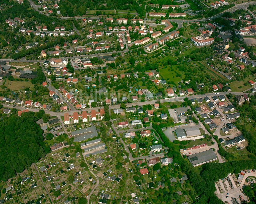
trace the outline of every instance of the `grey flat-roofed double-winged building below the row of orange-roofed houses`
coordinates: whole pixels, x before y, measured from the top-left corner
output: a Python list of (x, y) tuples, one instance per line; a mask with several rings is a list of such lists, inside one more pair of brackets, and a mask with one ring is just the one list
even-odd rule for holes
[(83, 140), (87, 140), (89, 138), (98, 136), (98, 132), (95, 126), (91, 126), (91, 127), (73, 131), (71, 132), (71, 136), (74, 137), (75, 142), (81, 142)]

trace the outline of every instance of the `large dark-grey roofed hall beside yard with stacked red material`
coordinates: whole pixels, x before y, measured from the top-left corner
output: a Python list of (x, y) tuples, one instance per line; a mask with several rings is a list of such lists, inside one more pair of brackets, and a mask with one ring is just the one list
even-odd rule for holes
[(199, 166), (217, 159), (218, 157), (212, 149), (188, 156), (188, 160), (193, 166)]

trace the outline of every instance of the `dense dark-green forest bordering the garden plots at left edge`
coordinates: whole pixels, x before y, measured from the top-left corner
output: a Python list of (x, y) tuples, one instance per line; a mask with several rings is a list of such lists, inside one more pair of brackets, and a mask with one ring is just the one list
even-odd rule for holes
[(49, 153), (42, 129), (36, 121), (45, 112), (11, 115), (0, 122), (0, 180), (7, 181)]

